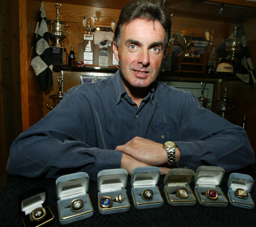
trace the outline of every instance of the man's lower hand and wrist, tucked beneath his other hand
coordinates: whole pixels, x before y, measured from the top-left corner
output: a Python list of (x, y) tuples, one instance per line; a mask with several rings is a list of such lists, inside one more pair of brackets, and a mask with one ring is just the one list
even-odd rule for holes
[[(132, 156), (123, 153), (120, 168), (127, 170), (129, 175), (132, 175), (134, 168), (145, 167), (145, 166), (150, 166), (150, 165), (140, 162), (137, 159), (133, 158)], [(167, 172), (170, 170), (169, 168), (166, 168), (166, 167), (159, 167), (159, 168), (161, 170), (161, 175), (167, 174)]]

